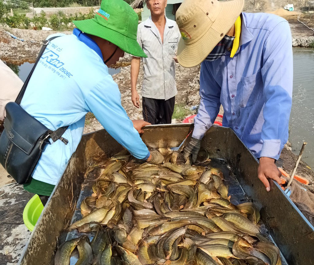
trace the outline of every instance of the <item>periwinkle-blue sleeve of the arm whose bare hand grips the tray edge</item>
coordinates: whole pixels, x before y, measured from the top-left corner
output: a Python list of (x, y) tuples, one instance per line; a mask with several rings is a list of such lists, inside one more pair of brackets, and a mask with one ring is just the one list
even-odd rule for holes
[(292, 38), (287, 21), (280, 22), (269, 34), (263, 52), (263, 147), (260, 157), (278, 159), (288, 140), (292, 105)]

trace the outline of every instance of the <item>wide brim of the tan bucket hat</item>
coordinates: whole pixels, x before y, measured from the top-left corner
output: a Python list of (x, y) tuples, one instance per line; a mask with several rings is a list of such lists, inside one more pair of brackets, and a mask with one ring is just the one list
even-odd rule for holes
[[(208, 54), (236, 22), (236, 19), (242, 12), (244, 0), (221, 1), (220, 4), (221, 10), (217, 19), (198, 41), (186, 45), (184, 40), (180, 39), (177, 59), (181, 66), (193, 67), (205, 60)], [(217, 32), (217, 28), (220, 29), (219, 32)], [(221, 33), (223, 33), (222, 36)]]

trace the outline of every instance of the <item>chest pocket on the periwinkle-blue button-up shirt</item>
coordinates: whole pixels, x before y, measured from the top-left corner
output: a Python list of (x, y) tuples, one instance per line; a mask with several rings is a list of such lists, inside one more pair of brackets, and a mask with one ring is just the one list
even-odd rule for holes
[(263, 89), (261, 71), (251, 76), (241, 77), (239, 105), (241, 108), (252, 107)]

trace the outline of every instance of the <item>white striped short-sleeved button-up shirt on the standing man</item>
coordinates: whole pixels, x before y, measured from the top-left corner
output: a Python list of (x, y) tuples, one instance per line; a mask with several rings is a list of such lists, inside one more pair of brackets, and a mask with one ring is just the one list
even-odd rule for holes
[(138, 25), (137, 40), (148, 58), (142, 58), (144, 79), (142, 96), (169, 99), (176, 95), (176, 54), (180, 31), (175, 21), (166, 19), (164, 42), (151, 16)]

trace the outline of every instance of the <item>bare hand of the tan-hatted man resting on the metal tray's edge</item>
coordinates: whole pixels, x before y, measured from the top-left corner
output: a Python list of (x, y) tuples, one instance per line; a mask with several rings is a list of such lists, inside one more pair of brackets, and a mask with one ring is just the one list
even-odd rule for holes
[(263, 182), (267, 191), (270, 191), (268, 178), (273, 179), (279, 185), (281, 184), (281, 173), (275, 165), (275, 160), (270, 157), (261, 157), (257, 169), (258, 178)]

